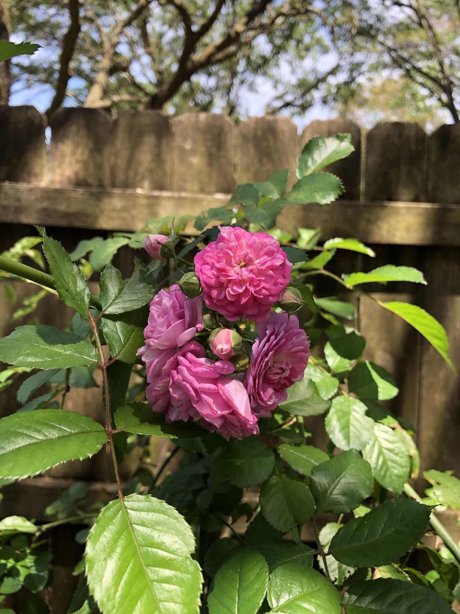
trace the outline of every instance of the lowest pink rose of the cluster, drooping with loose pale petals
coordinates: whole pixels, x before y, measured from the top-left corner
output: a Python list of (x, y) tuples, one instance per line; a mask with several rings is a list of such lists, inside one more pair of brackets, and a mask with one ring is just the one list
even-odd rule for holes
[(171, 371), (171, 403), (176, 420), (190, 415), (211, 432), (226, 440), (257, 435), (257, 416), (251, 411), (248, 393), (240, 379), (230, 377), (233, 365), (225, 360), (213, 362), (204, 356), (186, 352), (177, 357)]

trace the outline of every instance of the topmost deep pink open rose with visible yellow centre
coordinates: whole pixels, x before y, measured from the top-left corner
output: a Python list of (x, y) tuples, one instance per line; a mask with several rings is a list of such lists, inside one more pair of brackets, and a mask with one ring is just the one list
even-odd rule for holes
[(292, 265), (272, 236), (219, 228), (217, 241), (194, 258), (204, 302), (228, 320), (264, 322), (289, 283)]

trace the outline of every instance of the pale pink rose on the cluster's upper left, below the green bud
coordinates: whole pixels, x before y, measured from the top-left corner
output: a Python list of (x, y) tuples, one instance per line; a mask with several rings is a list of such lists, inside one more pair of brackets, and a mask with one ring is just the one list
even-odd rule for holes
[[(177, 284), (160, 290), (150, 303), (148, 324), (144, 330), (145, 346), (137, 354), (153, 349), (180, 348), (193, 339), (202, 325), (201, 297), (187, 298)], [(147, 359), (143, 359), (147, 362)]]

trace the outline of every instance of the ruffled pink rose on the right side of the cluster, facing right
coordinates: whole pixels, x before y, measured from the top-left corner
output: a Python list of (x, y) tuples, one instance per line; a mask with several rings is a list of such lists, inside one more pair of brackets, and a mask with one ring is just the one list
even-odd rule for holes
[(259, 338), (252, 346), (246, 383), (251, 406), (269, 416), (288, 398), (286, 388), (301, 380), (310, 356), (310, 341), (296, 316), (273, 312), (256, 324)]

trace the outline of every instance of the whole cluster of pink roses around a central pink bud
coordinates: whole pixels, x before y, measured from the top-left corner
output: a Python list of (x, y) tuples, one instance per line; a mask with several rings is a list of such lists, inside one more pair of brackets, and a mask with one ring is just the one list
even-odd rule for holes
[[(257, 421), (287, 398), (286, 388), (302, 379), (309, 340), (296, 316), (270, 309), (289, 283), (292, 265), (272, 236), (224, 227), (195, 258), (202, 297), (188, 298), (175, 284), (150, 303), (145, 346), (147, 400), (168, 422), (197, 420), (227, 440), (259, 432)], [(161, 236), (161, 235), (160, 235)], [(147, 238), (155, 253), (156, 236)], [(158, 243), (163, 243), (160, 239)], [(147, 249), (147, 247), (146, 247)], [(230, 362), (240, 349), (236, 331), (221, 329), (210, 338), (220, 360), (211, 360), (194, 338), (203, 330), (202, 303), (229, 321), (256, 322), (259, 337), (248, 368), (235, 373)]]

